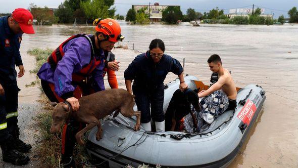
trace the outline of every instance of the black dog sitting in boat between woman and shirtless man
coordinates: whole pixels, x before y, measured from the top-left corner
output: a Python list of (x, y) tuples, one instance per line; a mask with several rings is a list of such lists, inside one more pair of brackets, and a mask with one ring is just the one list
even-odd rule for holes
[(197, 93), (200, 89), (187, 89), (184, 92), (178, 89), (173, 94), (169, 107), (166, 111), (166, 131), (178, 131), (179, 121), (188, 113), (191, 114), (194, 125), (197, 124), (196, 118), (191, 111), (190, 104), (195, 110), (201, 111), (200, 103), (198, 103)]

